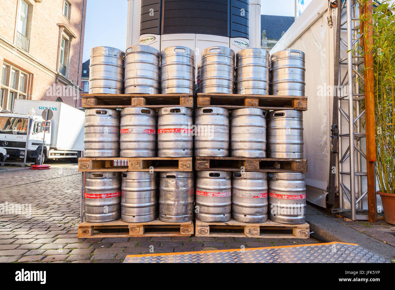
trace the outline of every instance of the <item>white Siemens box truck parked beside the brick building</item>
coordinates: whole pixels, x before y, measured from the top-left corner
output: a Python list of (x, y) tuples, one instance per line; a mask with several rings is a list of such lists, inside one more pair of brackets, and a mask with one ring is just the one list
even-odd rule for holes
[[(84, 150), (85, 114), (62, 102), (15, 100), (13, 113), (0, 114), (0, 147), (7, 150), (8, 159), (19, 161), (24, 159), (27, 148), (26, 159), (40, 164), (45, 128), (41, 113), (45, 109), (53, 111), (53, 118), (45, 132), (44, 161), (71, 159), (78, 162)], [(35, 114), (29, 116), (29, 111)], [(30, 125), (26, 146), (28, 119)]]

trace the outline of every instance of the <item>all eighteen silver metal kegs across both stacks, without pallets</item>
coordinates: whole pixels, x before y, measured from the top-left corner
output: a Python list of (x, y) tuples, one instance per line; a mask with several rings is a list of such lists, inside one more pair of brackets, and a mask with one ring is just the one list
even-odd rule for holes
[[(195, 76), (195, 65), (197, 75)], [(188, 47), (133, 45), (91, 50), (90, 94), (305, 94), (305, 54), (209, 47), (196, 64)], [(149, 107), (149, 106), (148, 106)], [(194, 114), (195, 113), (195, 114)], [(85, 157), (303, 158), (297, 110), (207, 106), (85, 111)], [(143, 223), (305, 222), (302, 173), (87, 172), (85, 220)], [(196, 199), (196, 202), (195, 202)]]

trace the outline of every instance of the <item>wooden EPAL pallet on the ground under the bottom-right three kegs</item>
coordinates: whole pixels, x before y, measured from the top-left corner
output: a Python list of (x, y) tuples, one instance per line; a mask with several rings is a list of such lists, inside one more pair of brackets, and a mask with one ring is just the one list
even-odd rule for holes
[(196, 220), (197, 237), (308, 239), (310, 225), (287, 225), (267, 221), (261, 224), (240, 223), (231, 219), (225, 223), (203, 223)]

